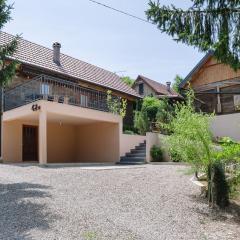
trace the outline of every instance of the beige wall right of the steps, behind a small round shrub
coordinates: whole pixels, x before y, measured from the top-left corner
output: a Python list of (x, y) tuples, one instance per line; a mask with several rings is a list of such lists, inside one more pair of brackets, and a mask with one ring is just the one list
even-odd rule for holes
[(165, 143), (166, 136), (159, 134), (159, 133), (147, 133), (146, 134), (146, 161), (151, 162), (152, 157), (150, 154), (151, 148), (153, 145), (159, 146), (163, 150), (163, 161), (169, 162), (171, 161), (170, 156), (167, 151), (166, 143)]

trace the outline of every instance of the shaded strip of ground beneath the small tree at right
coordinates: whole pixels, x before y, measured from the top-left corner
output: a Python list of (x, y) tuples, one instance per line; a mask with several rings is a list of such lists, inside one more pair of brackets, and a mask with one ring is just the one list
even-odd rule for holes
[(219, 221), (219, 222), (232, 222), (234, 224), (240, 224), (240, 206), (236, 203), (231, 203), (229, 207), (224, 210), (219, 208), (209, 208), (207, 199), (201, 196), (190, 196), (193, 201), (195, 201), (198, 205), (202, 206), (196, 207), (195, 210), (197, 213), (202, 215), (205, 219), (209, 219), (211, 221)]

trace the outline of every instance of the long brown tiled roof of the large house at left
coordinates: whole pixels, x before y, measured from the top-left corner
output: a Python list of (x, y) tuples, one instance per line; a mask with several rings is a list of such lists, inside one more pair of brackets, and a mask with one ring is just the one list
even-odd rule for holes
[[(0, 32), (0, 45), (9, 43), (13, 35)], [(112, 90), (140, 97), (118, 75), (68, 55), (60, 55), (61, 65), (53, 62), (53, 50), (20, 38), (18, 49), (11, 57), (21, 63), (86, 81)]]

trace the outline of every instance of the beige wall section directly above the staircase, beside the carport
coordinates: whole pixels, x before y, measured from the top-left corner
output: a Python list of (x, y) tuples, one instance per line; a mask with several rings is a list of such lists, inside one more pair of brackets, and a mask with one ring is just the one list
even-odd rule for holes
[(146, 140), (146, 136), (121, 134), (120, 155), (124, 156), (131, 149), (143, 143), (144, 140)]

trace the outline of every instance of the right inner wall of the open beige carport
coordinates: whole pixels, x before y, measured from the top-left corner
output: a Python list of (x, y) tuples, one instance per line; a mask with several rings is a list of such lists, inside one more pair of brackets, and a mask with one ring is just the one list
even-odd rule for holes
[(120, 158), (118, 124), (94, 123), (78, 127), (78, 162), (117, 162)]

